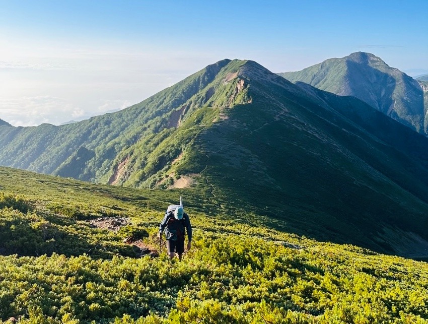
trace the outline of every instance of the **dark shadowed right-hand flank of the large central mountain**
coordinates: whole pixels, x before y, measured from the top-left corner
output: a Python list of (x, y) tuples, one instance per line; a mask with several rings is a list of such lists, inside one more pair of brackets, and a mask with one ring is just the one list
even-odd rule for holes
[(419, 226), (425, 137), (360, 100), (293, 86), (255, 62), (237, 77), (251, 103), (226, 110), (188, 149), (191, 166), (176, 167), (212, 186), (210, 204), (233, 202), (322, 240), (424, 254), (424, 239), (416, 248), (405, 237), (427, 237)]

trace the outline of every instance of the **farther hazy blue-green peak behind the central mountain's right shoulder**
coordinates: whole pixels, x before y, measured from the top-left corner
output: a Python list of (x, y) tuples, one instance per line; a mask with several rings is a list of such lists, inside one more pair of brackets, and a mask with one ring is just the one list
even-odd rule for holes
[(386, 115), (428, 135), (421, 85), (389, 67), (381, 58), (364, 52), (331, 58), (299, 72), (279, 73), (291, 82), (305, 82), (340, 96), (354, 96)]

